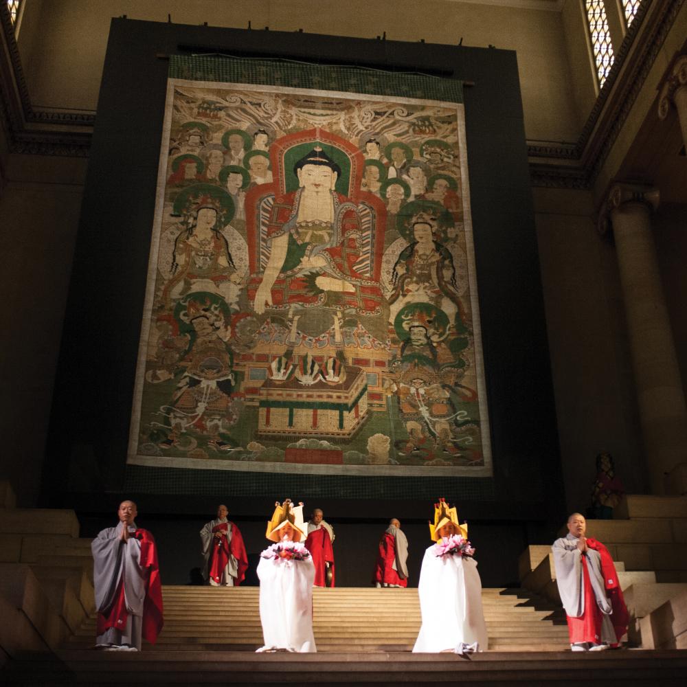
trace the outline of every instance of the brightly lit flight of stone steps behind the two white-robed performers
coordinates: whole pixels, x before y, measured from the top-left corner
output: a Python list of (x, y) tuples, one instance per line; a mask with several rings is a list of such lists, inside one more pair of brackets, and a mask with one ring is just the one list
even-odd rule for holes
[[(165, 627), (146, 651), (255, 651), (262, 646), (258, 587), (163, 588)], [(568, 648), (560, 608), (519, 589), (484, 589), (490, 651)], [(317, 651), (411, 651), (420, 629), (417, 589), (313, 590)], [(65, 644), (88, 649), (95, 616)]]

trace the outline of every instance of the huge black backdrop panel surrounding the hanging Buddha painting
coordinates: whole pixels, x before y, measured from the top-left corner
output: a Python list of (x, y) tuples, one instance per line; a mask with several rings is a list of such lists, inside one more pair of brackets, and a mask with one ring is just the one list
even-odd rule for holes
[[(126, 466), (166, 57), (212, 52), (423, 71), (474, 83), (466, 88), (464, 102), (493, 478), (269, 475)], [(517, 517), (517, 504), (523, 503), (561, 515), (560, 474), (515, 53), (114, 19), (60, 350), (43, 502), (78, 502), (98, 511), (100, 495), (126, 490), (157, 499), (154, 510), (163, 512), (172, 504), (179, 508), (184, 495), (205, 496), (208, 504), (216, 495), (425, 502), (446, 495), (500, 504), (506, 517)]]

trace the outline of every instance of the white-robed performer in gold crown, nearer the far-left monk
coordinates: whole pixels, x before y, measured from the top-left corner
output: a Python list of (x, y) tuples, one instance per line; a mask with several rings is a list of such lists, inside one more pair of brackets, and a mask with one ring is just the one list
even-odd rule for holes
[(303, 504), (291, 500), (276, 508), (267, 523), (267, 539), (276, 542), (260, 554), (260, 651), (315, 653), (313, 581), (315, 566), (301, 543), (306, 539)]

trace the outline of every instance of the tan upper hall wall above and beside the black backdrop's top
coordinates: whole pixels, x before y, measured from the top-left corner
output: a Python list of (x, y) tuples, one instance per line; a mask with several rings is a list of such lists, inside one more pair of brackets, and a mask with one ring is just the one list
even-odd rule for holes
[[(577, 101), (589, 102), (593, 82), (586, 52), (573, 52), (571, 63), (565, 40), (571, 30), (584, 37), (581, 15), (568, 12), (564, 23), (555, 0), (541, 0), (541, 10), (464, 0), (350, 0), (345, 9), (338, 0), (25, 1), (19, 48), (31, 98), (43, 107), (96, 109), (110, 18), (122, 14), (161, 22), (170, 14), (177, 24), (234, 28), (250, 21), (255, 30), (359, 38), (386, 32), (393, 41), (457, 45), (462, 39), (466, 46), (515, 50), (525, 130), (533, 140), (574, 142), (587, 115)], [(578, 74), (572, 81), (571, 69)]]

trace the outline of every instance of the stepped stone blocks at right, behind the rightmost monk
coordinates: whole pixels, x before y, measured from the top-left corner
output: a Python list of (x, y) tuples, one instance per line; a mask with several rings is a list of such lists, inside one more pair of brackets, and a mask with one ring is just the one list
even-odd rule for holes
[[(587, 536), (604, 543), (616, 562), (631, 616), (629, 640), (638, 646), (687, 648), (687, 635), (678, 639), (687, 630), (686, 619), (681, 620), (685, 602), (675, 601), (687, 595), (687, 497), (627, 495), (613, 515), (616, 519), (587, 520)], [(566, 533), (562, 528), (559, 536)], [(523, 589), (560, 603), (550, 545), (528, 546), (519, 574)], [(643, 621), (664, 605), (673, 609), (662, 611), (671, 627), (658, 615)]]

